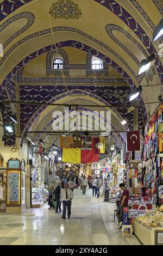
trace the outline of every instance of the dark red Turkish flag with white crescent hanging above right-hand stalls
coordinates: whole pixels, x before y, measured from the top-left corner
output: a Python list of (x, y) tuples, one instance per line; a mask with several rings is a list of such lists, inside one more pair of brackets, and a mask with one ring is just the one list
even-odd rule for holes
[(127, 150), (140, 150), (140, 131), (127, 132)]

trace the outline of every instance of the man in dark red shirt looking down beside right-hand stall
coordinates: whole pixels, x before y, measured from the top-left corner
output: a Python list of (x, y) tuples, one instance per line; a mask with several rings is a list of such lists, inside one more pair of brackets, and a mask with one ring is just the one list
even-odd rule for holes
[(129, 191), (126, 188), (126, 186), (124, 185), (124, 183), (121, 183), (119, 185), (119, 187), (121, 188), (122, 192), (122, 197), (120, 200), (120, 206), (117, 210), (117, 218), (118, 218), (118, 227), (117, 228), (121, 228), (122, 227), (122, 223), (123, 223), (123, 208), (124, 207), (128, 207), (128, 199), (129, 199)]

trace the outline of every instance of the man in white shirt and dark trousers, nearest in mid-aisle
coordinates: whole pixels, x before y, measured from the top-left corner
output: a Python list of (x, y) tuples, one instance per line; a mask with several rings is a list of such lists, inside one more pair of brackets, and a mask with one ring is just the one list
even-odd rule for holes
[(70, 218), (71, 215), (71, 200), (73, 199), (73, 192), (68, 188), (68, 184), (65, 184), (65, 188), (61, 190), (60, 202), (63, 203), (63, 213), (61, 218), (66, 218), (66, 208), (67, 216)]

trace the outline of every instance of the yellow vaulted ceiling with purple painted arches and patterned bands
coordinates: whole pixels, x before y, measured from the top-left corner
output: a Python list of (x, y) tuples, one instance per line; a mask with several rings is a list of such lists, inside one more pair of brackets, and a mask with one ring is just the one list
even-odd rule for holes
[[(7, 101), (71, 103), (109, 106), (112, 131), (133, 129), (133, 112), (127, 113), (128, 95), (141, 84), (163, 81), (162, 59), (137, 76), (142, 59), (158, 53), (162, 39), (152, 42), (152, 33), (162, 18), (161, 0), (0, 0), (0, 93)], [(67, 4), (67, 5), (65, 5)], [(68, 14), (68, 16), (65, 16)], [(53, 33), (52, 33), (53, 31)], [(54, 74), (47, 65), (51, 53), (64, 54), (66, 68)], [(91, 56), (103, 60), (102, 74), (91, 71)], [(65, 86), (65, 83), (68, 88)], [(158, 103), (162, 88), (145, 87), (137, 100), (139, 128)], [(114, 106), (113, 106), (114, 105)], [(117, 107), (116, 107), (117, 106)], [(21, 144), (27, 131), (51, 131), (57, 106), (7, 103), (16, 113), (16, 134), (7, 136), (4, 145)], [(80, 109), (82, 110), (82, 108)], [(46, 117), (46, 119), (45, 119)], [(2, 113), (3, 121), (7, 117)], [(126, 126), (121, 121), (128, 121)], [(3, 132), (1, 130), (1, 132)], [(47, 139), (46, 133), (30, 134), (32, 139)], [(121, 145), (123, 132), (114, 133)], [(50, 138), (55, 141), (56, 136)], [(49, 138), (47, 139), (49, 141)], [(15, 144), (16, 143), (16, 144)]]

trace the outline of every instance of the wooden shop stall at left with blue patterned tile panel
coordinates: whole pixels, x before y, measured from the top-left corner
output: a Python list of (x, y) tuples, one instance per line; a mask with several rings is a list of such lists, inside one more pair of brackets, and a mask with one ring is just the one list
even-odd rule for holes
[(25, 205), (25, 163), (18, 159), (10, 159), (7, 167), (0, 167), (0, 212), (21, 214)]

